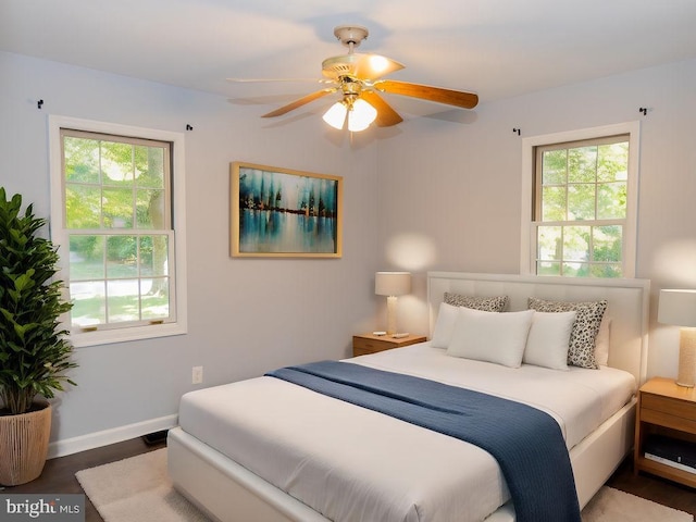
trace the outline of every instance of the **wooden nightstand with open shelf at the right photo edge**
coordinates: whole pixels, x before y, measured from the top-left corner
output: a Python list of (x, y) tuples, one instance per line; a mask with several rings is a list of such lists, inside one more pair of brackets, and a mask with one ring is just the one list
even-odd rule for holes
[[(662, 440), (696, 445), (696, 388), (678, 386), (673, 378), (655, 377), (638, 390), (635, 417), (634, 473), (645, 471), (696, 487), (694, 473), (645, 457), (650, 436)], [(667, 437), (667, 438), (666, 438)], [(691, 469), (691, 468), (689, 468)]]

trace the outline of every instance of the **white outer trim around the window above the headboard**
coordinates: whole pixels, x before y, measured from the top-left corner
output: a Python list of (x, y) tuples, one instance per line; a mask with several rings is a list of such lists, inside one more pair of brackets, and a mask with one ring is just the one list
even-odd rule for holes
[(635, 277), (637, 253), (638, 175), (641, 122), (625, 122), (614, 125), (567, 130), (562, 133), (531, 136), (522, 139), (522, 186), (520, 274), (536, 274), (536, 227), (533, 226), (534, 204), (534, 152), (545, 145), (598, 139), (621, 134), (629, 135), (629, 179), (626, 186), (626, 219), (623, 235), (623, 277)]

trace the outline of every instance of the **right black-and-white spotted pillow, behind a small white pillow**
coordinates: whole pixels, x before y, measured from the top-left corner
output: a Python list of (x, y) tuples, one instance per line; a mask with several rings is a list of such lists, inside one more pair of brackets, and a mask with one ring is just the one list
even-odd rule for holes
[(537, 312), (577, 312), (573, 330), (570, 333), (570, 347), (568, 350), (568, 363), (573, 366), (599, 368), (595, 360), (595, 338), (599, 332), (601, 318), (607, 310), (607, 301), (567, 302), (547, 301), (530, 297), (529, 308)]

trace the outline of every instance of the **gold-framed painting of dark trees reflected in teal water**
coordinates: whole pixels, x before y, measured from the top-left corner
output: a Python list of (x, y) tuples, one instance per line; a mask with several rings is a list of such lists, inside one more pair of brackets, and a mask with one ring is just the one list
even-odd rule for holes
[(343, 177), (234, 162), (231, 256), (340, 258)]

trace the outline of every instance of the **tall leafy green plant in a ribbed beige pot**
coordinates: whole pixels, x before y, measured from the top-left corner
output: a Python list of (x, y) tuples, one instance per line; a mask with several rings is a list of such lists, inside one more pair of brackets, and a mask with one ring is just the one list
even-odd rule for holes
[(51, 406), (47, 399), (73, 383), (65, 372), (77, 364), (60, 327), (72, 308), (63, 283), (54, 281), (58, 248), (39, 237), (47, 220), (22, 196), (7, 199), (0, 187), (0, 484), (38, 477), (48, 455)]

